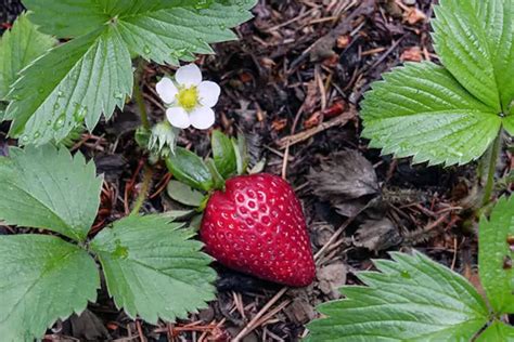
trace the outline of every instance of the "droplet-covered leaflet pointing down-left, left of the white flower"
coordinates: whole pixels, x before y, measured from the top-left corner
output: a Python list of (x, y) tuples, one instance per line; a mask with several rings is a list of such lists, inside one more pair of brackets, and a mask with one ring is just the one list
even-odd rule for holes
[(22, 73), (9, 94), (5, 119), (22, 144), (60, 142), (86, 121), (92, 130), (132, 90), (130, 54), (115, 28), (72, 40)]

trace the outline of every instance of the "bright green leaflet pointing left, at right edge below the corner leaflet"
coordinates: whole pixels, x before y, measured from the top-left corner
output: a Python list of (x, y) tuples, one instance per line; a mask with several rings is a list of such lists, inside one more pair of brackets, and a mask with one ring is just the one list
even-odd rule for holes
[(383, 154), (414, 162), (464, 165), (497, 136), (501, 118), (442, 67), (408, 63), (385, 74), (365, 94), (362, 135)]

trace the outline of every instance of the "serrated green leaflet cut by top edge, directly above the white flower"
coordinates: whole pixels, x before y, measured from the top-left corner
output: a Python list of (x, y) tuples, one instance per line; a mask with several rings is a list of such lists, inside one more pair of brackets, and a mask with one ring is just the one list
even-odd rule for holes
[(120, 18), (130, 50), (156, 63), (178, 65), (194, 54), (214, 53), (209, 43), (235, 40), (230, 30), (248, 21), (255, 0), (214, 0), (205, 9), (174, 8)]

